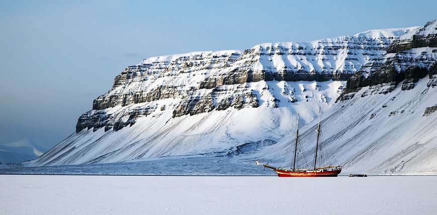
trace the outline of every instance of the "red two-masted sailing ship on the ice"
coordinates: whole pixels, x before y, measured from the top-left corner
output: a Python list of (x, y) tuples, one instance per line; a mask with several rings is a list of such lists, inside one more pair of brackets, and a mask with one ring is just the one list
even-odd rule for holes
[(275, 170), (279, 177), (337, 177), (342, 171), (342, 166), (321, 166), (316, 167), (317, 164), (317, 151), (319, 148), (320, 140), (320, 110), (318, 111), (318, 126), (317, 126), (317, 141), (315, 143), (315, 158), (314, 158), (314, 168), (312, 169), (296, 169), (296, 152), (297, 152), (297, 141), (299, 138), (299, 114), (297, 115), (297, 126), (296, 126), (296, 142), (294, 145), (294, 161), (293, 168), (287, 169), (282, 167), (273, 167), (269, 164), (264, 164), (265, 167)]

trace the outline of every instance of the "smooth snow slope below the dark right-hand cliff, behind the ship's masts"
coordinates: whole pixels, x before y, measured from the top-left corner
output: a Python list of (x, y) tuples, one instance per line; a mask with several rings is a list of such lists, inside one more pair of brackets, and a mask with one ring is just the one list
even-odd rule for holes
[[(427, 87), (428, 80), (419, 80), (411, 90), (401, 90), (399, 84), (387, 94), (379, 93), (378, 87), (363, 87), (322, 114), (322, 134), (329, 142), (326, 150), (335, 152), (344, 174), (437, 173), (437, 114), (424, 114), (427, 107), (437, 106), (437, 87)], [(300, 129), (309, 160), (314, 156), (315, 124)], [(293, 141), (289, 134), (253, 159), (289, 166)], [(298, 163), (303, 164), (302, 159)]]

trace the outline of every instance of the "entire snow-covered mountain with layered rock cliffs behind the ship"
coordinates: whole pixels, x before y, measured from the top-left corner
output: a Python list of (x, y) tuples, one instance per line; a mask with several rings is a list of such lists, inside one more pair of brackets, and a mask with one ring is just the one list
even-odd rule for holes
[[(300, 125), (306, 125), (320, 107), (325, 112), (327, 142), (333, 143), (331, 148), (346, 169), (387, 171), (388, 164), (360, 166), (373, 158), (371, 140), (386, 147), (387, 138), (393, 138), (387, 135), (391, 130), (377, 126), (389, 123), (395, 128), (413, 128), (405, 120), (420, 123), (435, 118), (432, 111), (425, 117), (418, 116), (424, 110), (411, 111), (423, 105), (434, 110), (432, 103), (437, 103), (432, 97), (436, 59), (435, 49), (429, 48), (435, 47), (432, 28), (435, 21), (424, 27), (372, 30), (311, 42), (261, 44), (244, 51), (144, 59), (125, 69), (115, 78), (113, 88), (93, 101), (93, 110), (79, 118), (75, 134), (28, 165), (111, 163), (175, 155), (235, 159), (242, 154), (247, 159), (254, 156), (286, 163), (297, 113)], [(431, 42), (415, 42), (417, 35)], [(408, 49), (409, 43), (415, 45)], [(400, 46), (404, 48), (396, 48)], [(397, 99), (391, 104), (393, 97)], [(408, 105), (407, 110), (404, 106)], [(388, 110), (390, 116), (383, 118)], [(408, 111), (414, 114), (407, 118), (403, 115)], [(359, 121), (369, 119), (369, 113), (370, 120)], [(311, 126), (303, 128), (308, 131), (303, 138), (311, 136)], [(426, 128), (432, 133), (432, 127), (427, 124)], [(377, 139), (354, 139), (360, 134)], [(412, 137), (400, 134), (404, 139)], [(387, 149), (394, 150), (394, 156), (407, 147), (399, 142)], [(380, 160), (388, 155), (381, 154)], [(375, 159), (372, 162), (376, 164)], [(403, 169), (419, 171), (415, 165)]]

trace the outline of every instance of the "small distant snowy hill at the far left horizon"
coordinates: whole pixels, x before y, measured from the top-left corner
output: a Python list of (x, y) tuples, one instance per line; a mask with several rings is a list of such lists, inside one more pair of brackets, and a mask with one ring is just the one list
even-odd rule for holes
[(0, 163), (34, 160), (46, 151), (47, 149), (31, 143), (29, 140), (0, 144)]

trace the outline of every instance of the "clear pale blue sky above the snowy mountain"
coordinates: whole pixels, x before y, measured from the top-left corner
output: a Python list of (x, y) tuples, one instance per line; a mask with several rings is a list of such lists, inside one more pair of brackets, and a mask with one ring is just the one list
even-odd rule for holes
[(424, 25), (437, 1), (2, 1), (0, 144), (50, 148), (143, 58)]

